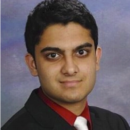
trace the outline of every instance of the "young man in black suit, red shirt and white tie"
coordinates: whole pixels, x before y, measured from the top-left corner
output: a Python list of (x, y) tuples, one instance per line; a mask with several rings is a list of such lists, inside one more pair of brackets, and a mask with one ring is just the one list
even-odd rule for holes
[(120, 115), (88, 106), (102, 51), (85, 5), (41, 2), (28, 17), (25, 42), (26, 63), (41, 86), (2, 130), (130, 130)]

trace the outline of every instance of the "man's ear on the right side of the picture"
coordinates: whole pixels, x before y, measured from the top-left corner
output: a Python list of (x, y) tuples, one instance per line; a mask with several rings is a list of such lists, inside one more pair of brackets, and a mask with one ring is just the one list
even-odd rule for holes
[(97, 49), (96, 49), (96, 70), (97, 71), (100, 69), (101, 56), (102, 56), (102, 49), (101, 49), (101, 47), (97, 47)]

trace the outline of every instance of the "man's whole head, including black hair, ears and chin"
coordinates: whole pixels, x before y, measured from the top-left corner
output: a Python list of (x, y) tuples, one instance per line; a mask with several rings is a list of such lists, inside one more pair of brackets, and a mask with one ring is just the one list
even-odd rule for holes
[(78, 0), (45, 0), (28, 17), (26, 62), (53, 101), (83, 103), (94, 87), (101, 49), (98, 29)]

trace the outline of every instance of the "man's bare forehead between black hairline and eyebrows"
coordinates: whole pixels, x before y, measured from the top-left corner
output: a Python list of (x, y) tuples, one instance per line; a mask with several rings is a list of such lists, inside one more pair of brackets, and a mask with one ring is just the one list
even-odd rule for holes
[(80, 24), (70, 22), (67, 25), (55, 24), (49, 26), (42, 34), (39, 47), (74, 48), (83, 43), (94, 44), (90, 30)]

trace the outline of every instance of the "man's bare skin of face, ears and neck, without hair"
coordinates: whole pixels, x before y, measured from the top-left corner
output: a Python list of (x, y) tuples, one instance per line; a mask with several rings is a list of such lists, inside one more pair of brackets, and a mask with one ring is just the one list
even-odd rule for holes
[(95, 51), (90, 31), (70, 22), (49, 26), (35, 46), (35, 61), (25, 56), (44, 94), (76, 115), (81, 114), (99, 70), (101, 48)]

